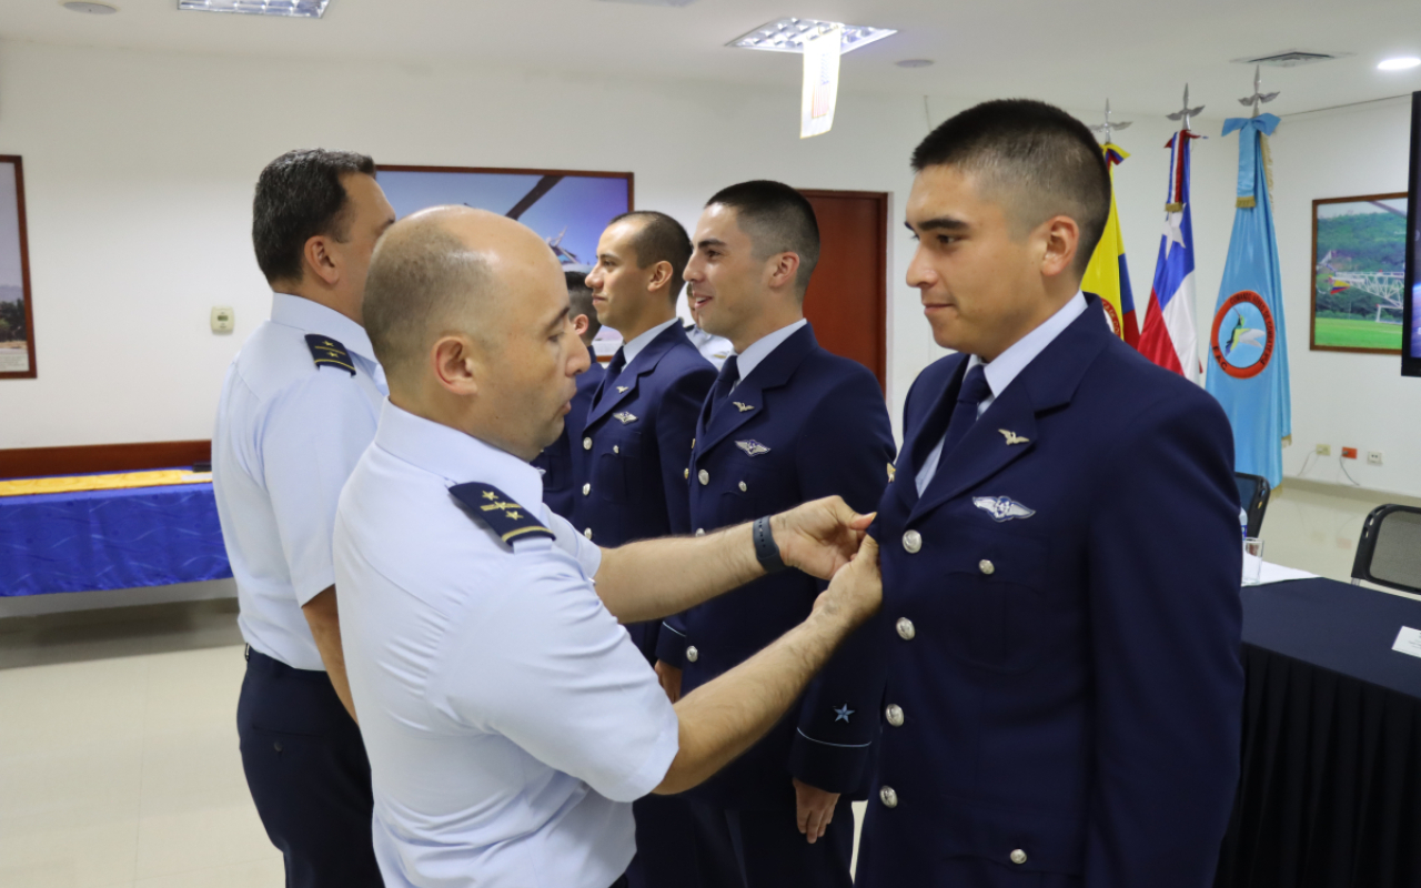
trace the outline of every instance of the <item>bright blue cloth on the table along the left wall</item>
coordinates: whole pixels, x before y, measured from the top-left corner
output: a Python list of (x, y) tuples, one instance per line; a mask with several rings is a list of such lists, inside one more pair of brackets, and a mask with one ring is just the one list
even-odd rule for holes
[(0, 497), (0, 597), (230, 575), (210, 483)]

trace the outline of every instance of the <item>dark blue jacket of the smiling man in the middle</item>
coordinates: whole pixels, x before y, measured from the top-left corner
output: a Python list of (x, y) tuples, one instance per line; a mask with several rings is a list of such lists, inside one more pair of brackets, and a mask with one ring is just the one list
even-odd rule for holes
[[(892, 429), (878, 381), (836, 357), (806, 325), (696, 426), (686, 470), (691, 524), (715, 530), (840, 494), (870, 511), (888, 482)], [(657, 654), (684, 669), (689, 693), (803, 621), (824, 585), (796, 570), (763, 577), (665, 621)], [(858, 632), (763, 740), (691, 793), (726, 808), (793, 810), (790, 777), (863, 797), (878, 735), (867, 645)], [(691, 649), (693, 655), (688, 655)], [(693, 656), (693, 659), (692, 659)]]

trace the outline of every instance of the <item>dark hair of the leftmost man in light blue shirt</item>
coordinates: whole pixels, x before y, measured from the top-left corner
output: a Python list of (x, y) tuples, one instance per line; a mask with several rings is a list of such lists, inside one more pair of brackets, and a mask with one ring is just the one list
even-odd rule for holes
[(252, 246), (267, 281), (301, 280), (301, 254), (311, 237), (345, 240), (350, 196), (341, 176), (348, 173), (374, 178), (375, 162), (352, 151), (307, 148), (288, 151), (261, 170), (252, 200)]

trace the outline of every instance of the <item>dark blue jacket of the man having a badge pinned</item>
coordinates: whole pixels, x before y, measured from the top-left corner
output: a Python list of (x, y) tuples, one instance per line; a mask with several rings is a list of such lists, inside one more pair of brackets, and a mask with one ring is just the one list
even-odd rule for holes
[(976, 858), (1003, 885), (1206, 888), (1243, 699), (1229, 422), (1091, 297), (919, 497), (917, 438), (966, 364), (909, 391), (872, 529), (887, 683), (858, 884), (934, 888)]

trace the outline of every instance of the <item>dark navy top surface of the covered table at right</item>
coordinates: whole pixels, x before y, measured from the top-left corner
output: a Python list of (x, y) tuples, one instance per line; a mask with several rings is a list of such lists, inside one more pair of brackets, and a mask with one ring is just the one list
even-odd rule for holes
[(1393, 651), (1421, 601), (1336, 580), (1243, 587), (1243, 642), (1421, 698), (1421, 658)]

